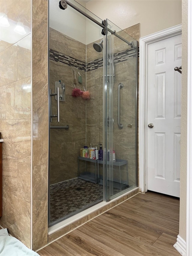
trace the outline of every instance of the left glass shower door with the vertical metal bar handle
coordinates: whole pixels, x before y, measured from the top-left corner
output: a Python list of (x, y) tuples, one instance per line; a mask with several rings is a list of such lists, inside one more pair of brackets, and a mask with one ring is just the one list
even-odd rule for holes
[(49, 227), (103, 201), (97, 160), (83, 155), (84, 147), (103, 144), (103, 35), (97, 23), (49, 1)]

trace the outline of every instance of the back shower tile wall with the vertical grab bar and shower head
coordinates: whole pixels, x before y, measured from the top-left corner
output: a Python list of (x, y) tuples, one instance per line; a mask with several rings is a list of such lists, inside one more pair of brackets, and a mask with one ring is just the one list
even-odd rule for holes
[[(139, 40), (139, 24), (125, 29), (129, 35)], [(131, 33), (130, 33), (131, 32)], [(124, 37), (124, 32), (119, 32)], [(101, 41), (98, 40), (99, 43)], [(98, 53), (93, 48), (93, 43), (87, 45), (87, 90), (91, 92), (91, 99), (87, 101), (87, 145), (99, 146), (103, 142), (103, 52)], [(114, 68), (115, 80), (113, 87), (113, 145), (116, 158), (128, 160), (129, 185), (136, 185), (136, 54), (127, 44), (121, 44), (120, 39), (114, 37)], [(98, 63), (98, 64), (97, 64)], [(94, 65), (93, 65), (94, 64)], [(91, 68), (90, 68), (91, 67)], [(120, 117), (123, 129), (117, 124), (117, 95), (118, 85), (123, 83), (120, 91)], [(92, 164), (89, 172), (94, 171)], [(113, 178), (119, 180), (119, 167), (113, 167)], [(126, 181), (126, 167), (121, 167), (122, 180)], [(100, 169), (102, 175), (102, 168)]]

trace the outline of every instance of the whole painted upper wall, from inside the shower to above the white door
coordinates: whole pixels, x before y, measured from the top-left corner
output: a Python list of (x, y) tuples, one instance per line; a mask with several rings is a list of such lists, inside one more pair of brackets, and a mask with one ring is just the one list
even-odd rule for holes
[[(74, 3), (73, 0), (70, 1)], [(77, 2), (86, 6), (102, 20), (108, 18), (121, 29), (140, 23), (141, 37), (182, 23), (181, 0), (78, 0)], [(78, 7), (81, 8), (81, 5)], [(88, 21), (70, 6), (66, 10), (61, 10), (58, 7), (58, 0), (49, 1), (49, 26), (83, 44), (102, 38), (101, 28), (98, 25)]]

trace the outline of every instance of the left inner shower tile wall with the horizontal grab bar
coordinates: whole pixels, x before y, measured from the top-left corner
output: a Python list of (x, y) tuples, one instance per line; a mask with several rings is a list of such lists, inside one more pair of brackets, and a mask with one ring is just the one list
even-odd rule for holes
[[(49, 77), (50, 89), (55, 91), (55, 81), (65, 83), (66, 100), (60, 101), (60, 122), (52, 118), (51, 126), (69, 125), (69, 130), (50, 129), (50, 184), (78, 176), (77, 157), (85, 145), (86, 101), (71, 96), (76, 71), (77, 88), (86, 86), (85, 44), (70, 38), (55, 29), (49, 29)], [(82, 84), (78, 83), (78, 72)], [(52, 97), (52, 115), (57, 113), (57, 101)]]

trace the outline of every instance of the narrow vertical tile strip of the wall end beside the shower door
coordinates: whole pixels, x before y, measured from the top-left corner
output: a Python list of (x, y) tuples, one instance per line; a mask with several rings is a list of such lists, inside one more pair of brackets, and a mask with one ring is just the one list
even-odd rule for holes
[(32, 248), (48, 234), (48, 1), (32, 0)]

